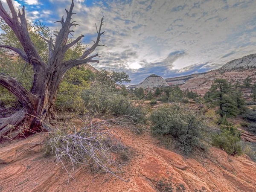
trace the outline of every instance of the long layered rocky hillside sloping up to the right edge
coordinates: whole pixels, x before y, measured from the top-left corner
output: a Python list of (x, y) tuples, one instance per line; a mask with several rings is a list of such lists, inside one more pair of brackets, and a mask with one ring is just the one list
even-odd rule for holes
[[(166, 79), (169, 85), (179, 84), (180, 88), (189, 89), (198, 94), (204, 95), (217, 78), (227, 79), (235, 83), (239, 81), (243, 83), (243, 79), (250, 76), (253, 82), (256, 82), (256, 54), (244, 56), (227, 62), (218, 70), (209, 71), (207, 73), (192, 74), (177, 78)], [(249, 94), (248, 90), (243, 90), (245, 95)]]

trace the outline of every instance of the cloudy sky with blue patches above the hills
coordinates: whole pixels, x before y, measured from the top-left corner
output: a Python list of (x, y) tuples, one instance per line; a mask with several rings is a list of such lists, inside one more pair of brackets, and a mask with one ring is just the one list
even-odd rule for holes
[[(1, 0), (6, 6), (6, 0)], [(71, 0), (15, 0), (26, 17), (60, 28)], [(217, 69), (255, 52), (256, 0), (75, 0), (74, 38), (96, 39), (95, 24), (104, 16), (99, 64), (125, 71), (138, 84), (157, 74), (164, 79)]]

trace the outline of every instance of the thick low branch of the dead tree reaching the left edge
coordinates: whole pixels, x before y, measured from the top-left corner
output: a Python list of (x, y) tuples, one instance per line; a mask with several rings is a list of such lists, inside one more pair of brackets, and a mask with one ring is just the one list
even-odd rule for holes
[(16, 79), (0, 75), (0, 85), (13, 93), (25, 107), (36, 108), (39, 98), (26, 90)]

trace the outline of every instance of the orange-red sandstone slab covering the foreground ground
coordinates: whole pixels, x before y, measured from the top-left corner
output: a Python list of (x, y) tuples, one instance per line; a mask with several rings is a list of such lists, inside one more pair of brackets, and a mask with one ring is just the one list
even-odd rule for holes
[[(44, 137), (35, 136), (0, 148), (0, 191), (256, 191), (256, 163), (246, 157), (233, 157), (221, 149), (211, 148), (209, 156), (199, 161), (157, 147), (155, 143), (159, 141), (148, 132), (134, 135), (127, 129), (116, 131), (134, 151), (131, 161), (123, 167), (123, 174), (119, 175), (127, 182), (106, 173), (90, 172), (87, 166), (76, 167), (73, 172), (72, 166), (65, 163), (75, 180), (69, 179), (65, 169), (61, 169), (53, 157), (42, 157), (44, 151), (36, 152), (35, 147)], [(22, 156), (16, 158), (20, 154)]]

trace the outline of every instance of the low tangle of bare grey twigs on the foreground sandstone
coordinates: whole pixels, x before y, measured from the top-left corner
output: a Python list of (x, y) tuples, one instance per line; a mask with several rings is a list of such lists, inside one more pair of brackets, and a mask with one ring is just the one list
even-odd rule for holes
[(69, 176), (67, 163), (72, 165), (73, 170), (77, 165), (88, 165), (93, 172), (101, 171), (119, 177), (117, 174), (129, 160), (130, 150), (122, 143), (116, 128), (135, 127), (130, 122), (123, 122), (121, 118), (97, 122), (86, 119), (84, 126), (79, 129), (76, 126), (56, 127), (49, 130), (49, 139), (45, 143), (46, 153), (53, 154)]

